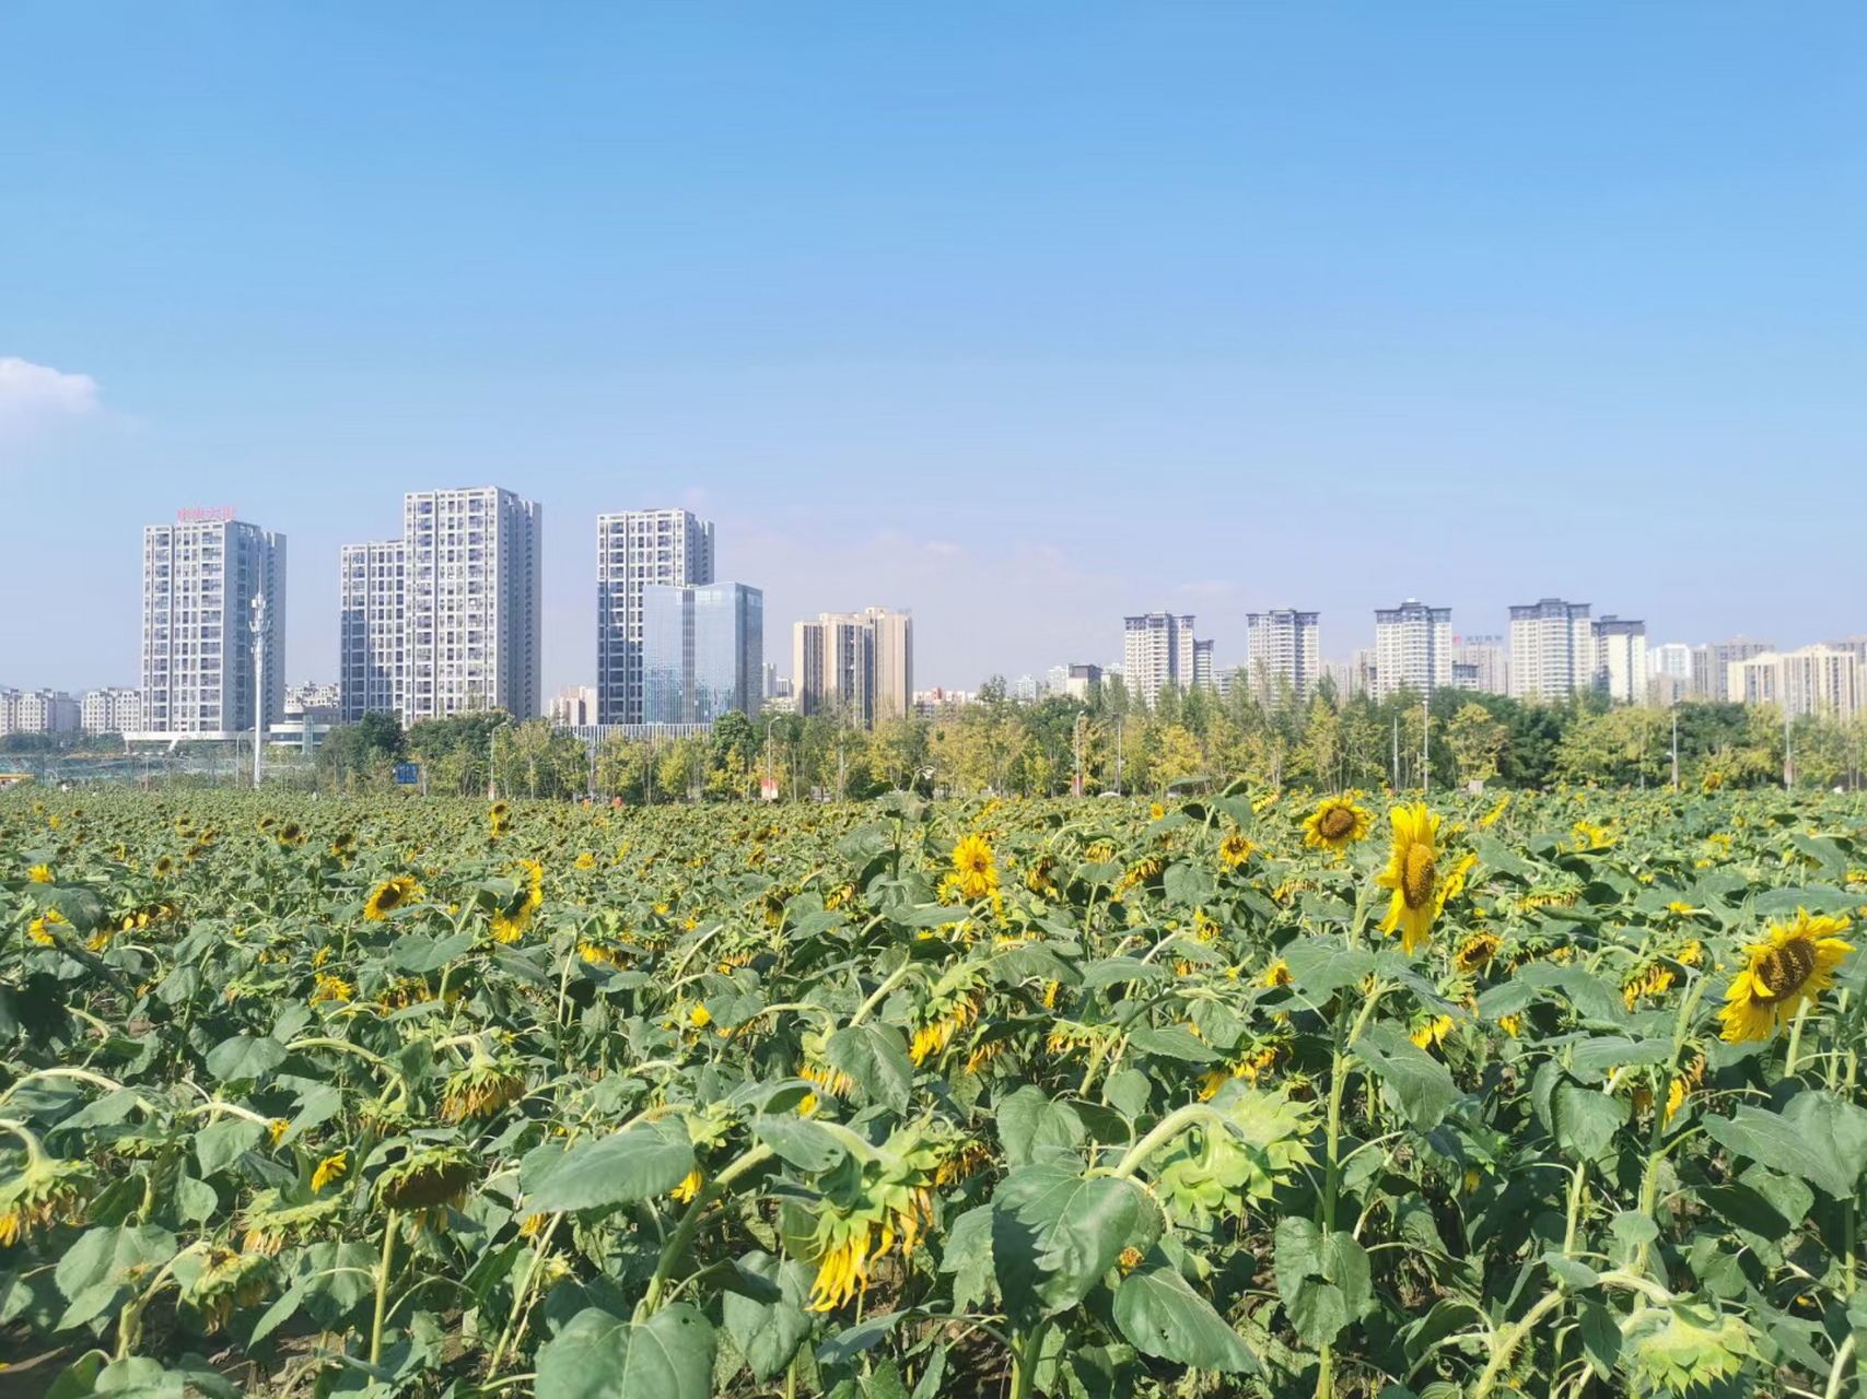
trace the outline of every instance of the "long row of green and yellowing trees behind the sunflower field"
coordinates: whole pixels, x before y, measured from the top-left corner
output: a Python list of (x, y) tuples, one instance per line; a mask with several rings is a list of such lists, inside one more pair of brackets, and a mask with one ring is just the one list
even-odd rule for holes
[[(1284, 688), (1268, 696), (1236, 686), (1165, 692), (1150, 709), (1120, 686), (1087, 701), (1021, 703), (1003, 681), (975, 703), (935, 718), (885, 718), (874, 729), (835, 714), (726, 714), (711, 735), (603, 739), (592, 750), (545, 720), (515, 722), (500, 711), (416, 724), (407, 733), (388, 714), (330, 735), (319, 783), (386, 789), (394, 765), (418, 763), (426, 791), (517, 796), (620, 796), (624, 802), (741, 800), (769, 778), (780, 796), (863, 798), (915, 787), (954, 793), (1060, 795), (1081, 774), (1083, 791), (1159, 793), (1187, 780), (1236, 776), (1320, 791), (1382, 785), (1436, 787), (1484, 782), (1546, 787), (1768, 785), (1785, 767), (1800, 787), (1860, 785), (1867, 770), (1867, 716), (1841, 722), (1727, 703), (1675, 709), (1607, 707), (1596, 696), (1523, 703), (1505, 696), (1441, 690), (1376, 703), (1324, 690), (1298, 703)], [(1785, 765), (1785, 755), (1790, 759)]]

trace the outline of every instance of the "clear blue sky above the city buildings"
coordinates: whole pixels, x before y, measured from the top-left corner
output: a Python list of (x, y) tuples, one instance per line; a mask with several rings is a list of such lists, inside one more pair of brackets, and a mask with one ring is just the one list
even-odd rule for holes
[[(0, 9), (0, 685), (129, 683), (138, 530), (689, 504), (924, 685), (1120, 616), (1542, 595), (1867, 630), (1858, 4)], [(17, 364), (11, 364), (17, 362)]]

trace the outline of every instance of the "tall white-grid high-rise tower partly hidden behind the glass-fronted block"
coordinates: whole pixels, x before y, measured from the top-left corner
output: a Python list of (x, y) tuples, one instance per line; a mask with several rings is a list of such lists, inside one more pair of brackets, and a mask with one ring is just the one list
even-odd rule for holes
[(596, 692), (603, 724), (642, 724), (642, 589), (713, 582), (713, 524), (687, 509), (596, 517)]

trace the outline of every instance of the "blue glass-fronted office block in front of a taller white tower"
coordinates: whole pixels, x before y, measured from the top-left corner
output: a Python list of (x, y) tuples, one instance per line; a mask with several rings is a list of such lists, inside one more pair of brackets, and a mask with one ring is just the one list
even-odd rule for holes
[(747, 584), (642, 589), (642, 722), (711, 724), (756, 714), (765, 672), (765, 595)]

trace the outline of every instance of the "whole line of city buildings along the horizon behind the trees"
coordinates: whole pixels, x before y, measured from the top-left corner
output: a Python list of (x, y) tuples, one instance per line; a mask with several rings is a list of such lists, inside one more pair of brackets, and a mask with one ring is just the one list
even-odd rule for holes
[[(73, 696), (0, 688), (0, 737), (118, 733), (125, 741), (246, 739), (314, 748), (370, 713), (403, 726), (504, 709), (596, 731), (706, 729), (723, 714), (833, 714), (870, 727), (941, 714), (973, 690), (915, 688), (913, 614), (823, 612), (792, 629), (792, 675), (765, 658), (758, 588), (717, 578), (715, 530), (687, 509), (596, 519), (596, 685), (541, 692), (543, 509), (498, 487), (411, 491), (401, 537), (344, 545), (338, 679), (288, 686), (286, 535), (232, 509), (177, 511), (142, 533), (140, 683)], [(1867, 703), (1867, 636), (1783, 651), (1734, 636), (1649, 644), (1647, 623), (1544, 597), (1509, 608), (1509, 630), (1454, 634), (1453, 610), (1406, 599), (1374, 610), (1374, 645), (1326, 660), (1322, 614), (1245, 614), (1242, 664), (1219, 666), (1195, 617), (1122, 617), (1120, 660), (1019, 675), (1012, 700), (1087, 701), (1120, 681), (1154, 705), (1172, 690), (1247, 690), (1260, 703), (1439, 690), (1561, 703), (1721, 700), (1789, 714), (1850, 716)]]

